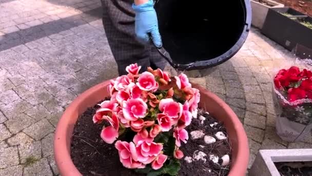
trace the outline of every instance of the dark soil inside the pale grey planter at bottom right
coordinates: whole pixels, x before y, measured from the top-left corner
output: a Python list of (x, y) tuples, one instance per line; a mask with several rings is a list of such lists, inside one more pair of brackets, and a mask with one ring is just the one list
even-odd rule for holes
[(312, 176), (312, 162), (275, 163), (282, 176)]

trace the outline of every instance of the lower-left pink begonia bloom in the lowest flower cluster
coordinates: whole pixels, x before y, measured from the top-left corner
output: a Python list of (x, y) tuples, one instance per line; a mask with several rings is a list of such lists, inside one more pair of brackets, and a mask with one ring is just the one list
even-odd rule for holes
[(120, 162), (123, 164), (124, 167), (128, 169), (136, 169), (136, 168), (144, 168), (145, 165), (141, 162), (133, 160), (133, 153), (135, 152), (135, 146), (132, 142), (122, 142), (118, 140), (115, 143), (115, 148), (118, 150)]

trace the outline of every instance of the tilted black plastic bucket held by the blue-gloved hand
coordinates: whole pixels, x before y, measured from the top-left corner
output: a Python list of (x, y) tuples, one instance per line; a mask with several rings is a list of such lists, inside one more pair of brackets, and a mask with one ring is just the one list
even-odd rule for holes
[(244, 44), (251, 24), (249, 0), (158, 0), (155, 9), (163, 40), (159, 51), (182, 70), (227, 61)]

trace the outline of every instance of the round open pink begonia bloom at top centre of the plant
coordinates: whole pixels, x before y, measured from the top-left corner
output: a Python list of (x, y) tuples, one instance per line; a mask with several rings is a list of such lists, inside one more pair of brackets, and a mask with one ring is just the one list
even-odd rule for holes
[(136, 85), (138, 85), (143, 91), (157, 91), (159, 87), (154, 75), (149, 72), (142, 73), (138, 78)]

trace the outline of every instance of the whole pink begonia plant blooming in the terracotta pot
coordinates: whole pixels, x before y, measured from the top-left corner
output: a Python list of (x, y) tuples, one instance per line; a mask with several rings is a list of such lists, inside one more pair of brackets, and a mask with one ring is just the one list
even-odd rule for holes
[[(114, 143), (124, 167), (175, 174), (184, 155), (179, 148), (188, 140), (185, 127), (192, 116), (197, 117), (199, 90), (184, 74), (170, 77), (151, 68), (139, 74), (140, 68), (131, 64), (128, 75), (111, 80), (111, 98), (99, 104), (93, 122), (104, 123), (101, 138)], [(128, 136), (127, 141), (122, 135)]]

